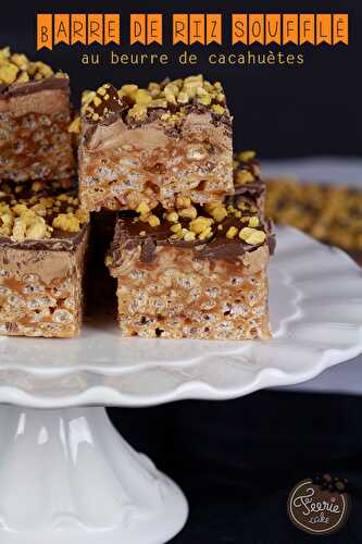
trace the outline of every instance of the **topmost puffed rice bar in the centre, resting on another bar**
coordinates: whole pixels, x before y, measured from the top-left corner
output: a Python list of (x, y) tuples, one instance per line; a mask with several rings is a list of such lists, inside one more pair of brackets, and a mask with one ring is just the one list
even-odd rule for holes
[(104, 84), (84, 94), (79, 191), (89, 211), (204, 205), (233, 193), (232, 118), (222, 85), (201, 75)]

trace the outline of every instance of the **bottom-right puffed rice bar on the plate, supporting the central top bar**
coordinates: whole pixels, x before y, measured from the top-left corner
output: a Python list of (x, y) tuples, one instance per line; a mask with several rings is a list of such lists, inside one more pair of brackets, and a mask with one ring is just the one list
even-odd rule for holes
[[(120, 213), (107, 258), (123, 336), (269, 338), (271, 224), (253, 200)], [(195, 207), (194, 207), (195, 209)]]

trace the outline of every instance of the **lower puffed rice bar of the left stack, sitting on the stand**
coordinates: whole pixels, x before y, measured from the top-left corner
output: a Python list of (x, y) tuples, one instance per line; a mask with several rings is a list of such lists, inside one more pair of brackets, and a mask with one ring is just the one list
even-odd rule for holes
[(78, 334), (88, 231), (74, 191), (0, 184), (0, 334)]

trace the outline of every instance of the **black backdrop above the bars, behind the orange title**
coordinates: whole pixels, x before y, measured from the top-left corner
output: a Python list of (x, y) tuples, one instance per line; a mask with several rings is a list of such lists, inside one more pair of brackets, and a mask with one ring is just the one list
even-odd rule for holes
[[(165, 75), (179, 77), (180, 69), (175, 66), (89, 66), (79, 63), (79, 53), (89, 51), (84, 47), (57, 46), (53, 51), (46, 50), (36, 54), (36, 15), (37, 12), (58, 13), (97, 13), (115, 12), (123, 14), (122, 32), (125, 40), (123, 52), (168, 51), (175, 54), (184, 46), (168, 46), (171, 40), (165, 33), (171, 28), (164, 25), (165, 45), (152, 47), (127, 46), (128, 15), (138, 12), (182, 13), (310, 13), (330, 12), (349, 13), (350, 45), (296, 46), (258, 48), (253, 52), (283, 50), (284, 52), (303, 52), (304, 65), (295, 66), (210, 66), (200, 62), (189, 73), (204, 72), (211, 81), (221, 79), (226, 88), (228, 103), (235, 116), (235, 147), (237, 149), (257, 149), (266, 157), (299, 157), (310, 154), (361, 153), (360, 131), (361, 114), (361, 28), (362, 8), (357, 0), (303, 2), (303, 1), (220, 1), (209, 4), (204, 1), (174, 2), (2, 2), (0, 14), (0, 44), (12, 45), (33, 57), (40, 58), (54, 67), (61, 67), (71, 75), (74, 100), (85, 88), (96, 88), (105, 81), (116, 86), (126, 82), (146, 84), (150, 79), (162, 79)], [(228, 25), (226, 24), (227, 28)], [(225, 35), (225, 42), (229, 42)], [(120, 46), (110, 46), (116, 50)], [(189, 47), (189, 51), (207, 57), (207, 52), (246, 51), (245, 46)], [(92, 51), (107, 51), (108, 48), (91, 46)]]

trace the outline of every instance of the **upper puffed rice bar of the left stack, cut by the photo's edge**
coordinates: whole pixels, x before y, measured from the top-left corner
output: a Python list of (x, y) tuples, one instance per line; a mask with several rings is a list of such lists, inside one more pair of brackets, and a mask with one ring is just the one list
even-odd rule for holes
[(0, 180), (74, 176), (66, 74), (0, 49)]

